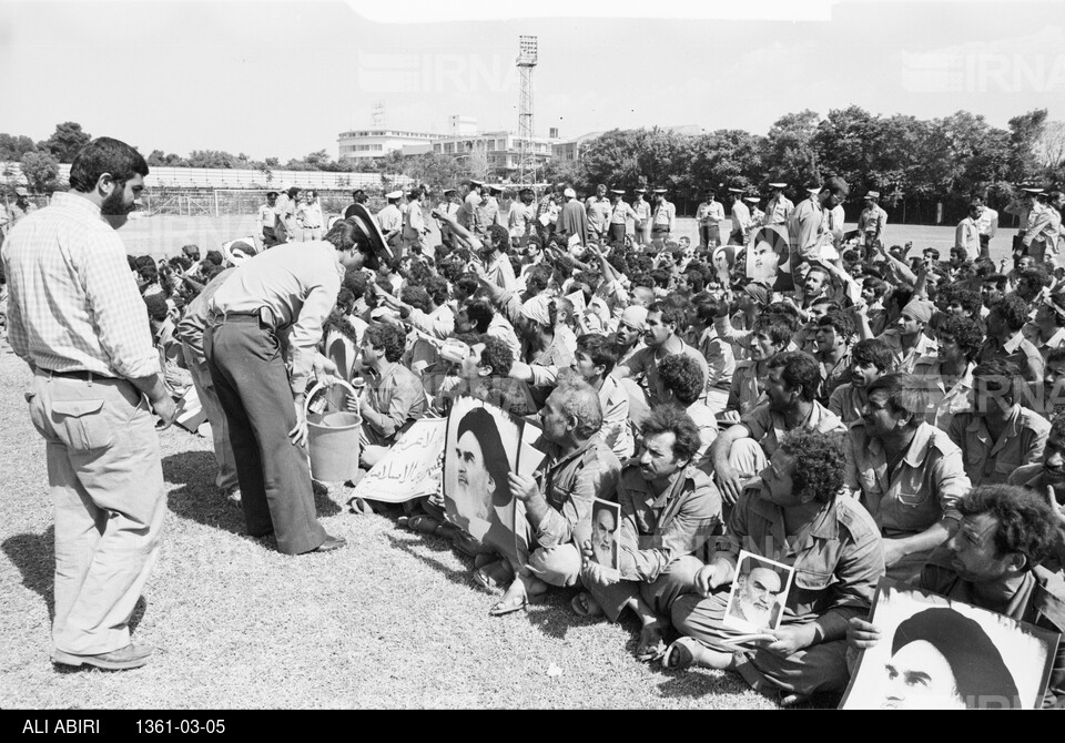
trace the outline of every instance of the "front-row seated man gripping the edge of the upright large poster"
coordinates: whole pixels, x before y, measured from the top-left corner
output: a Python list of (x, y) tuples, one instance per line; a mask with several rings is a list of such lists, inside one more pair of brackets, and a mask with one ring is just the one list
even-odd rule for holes
[(576, 586), (580, 576), (578, 544), (591, 538), (591, 505), (611, 497), (621, 469), (600, 435), (599, 396), (576, 374), (564, 373), (540, 410), (550, 454), (540, 474), (511, 472), (511, 495), (525, 503), (532, 532), (529, 561), (489, 611), (507, 614), (525, 608), (550, 586)]

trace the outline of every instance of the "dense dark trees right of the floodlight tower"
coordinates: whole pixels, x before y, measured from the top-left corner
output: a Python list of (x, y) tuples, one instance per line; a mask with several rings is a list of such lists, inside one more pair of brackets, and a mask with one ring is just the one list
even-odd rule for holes
[(974, 195), (1003, 205), (1022, 182), (1065, 182), (1065, 122), (1039, 109), (1014, 116), (1007, 129), (958, 111), (943, 119), (881, 116), (852, 105), (821, 119), (814, 111), (778, 119), (763, 136), (722, 129), (683, 135), (663, 129), (615, 130), (585, 144), (577, 183), (628, 190), (663, 186), (673, 201), (698, 203), (708, 186), (765, 194), (787, 182), (802, 186), (830, 175), (851, 186), (851, 201), (878, 191), (893, 221), (934, 222), (964, 216)]

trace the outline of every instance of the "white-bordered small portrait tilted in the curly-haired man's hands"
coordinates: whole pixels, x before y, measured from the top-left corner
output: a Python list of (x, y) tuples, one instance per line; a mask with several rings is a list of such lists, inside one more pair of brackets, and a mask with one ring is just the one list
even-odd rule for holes
[(724, 623), (744, 632), (775, 630), (783, 618), (793, 574), (785, 564), (740, 552)]

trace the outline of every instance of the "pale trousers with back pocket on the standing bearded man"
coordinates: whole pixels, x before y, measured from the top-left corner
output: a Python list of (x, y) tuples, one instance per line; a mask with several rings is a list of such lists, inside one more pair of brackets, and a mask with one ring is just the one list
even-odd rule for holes
[(27, 397), (55, 505), (52, 641), (80, 655), (119, 650), (166, 515), (155, 418), (123, 379), (38, 370)]

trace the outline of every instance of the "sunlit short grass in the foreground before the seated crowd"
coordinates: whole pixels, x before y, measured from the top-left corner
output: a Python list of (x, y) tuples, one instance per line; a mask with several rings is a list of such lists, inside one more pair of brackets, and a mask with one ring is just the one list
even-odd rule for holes
[(744, 708), (774, 704), (737, 676), (663, 672), (632, 653), (638, 624), (576, 618), (572, 590), (494, 619), (496, 597), (442, 540), (320, 498), (348, 547), (286, 557), (243, 535), (213, 488), (210, 441), (160, 436), (170, 513), (135, 639), (135, 671), (49, 661), (52, 508), (26, 366), (0, 344), (0, 708)]

